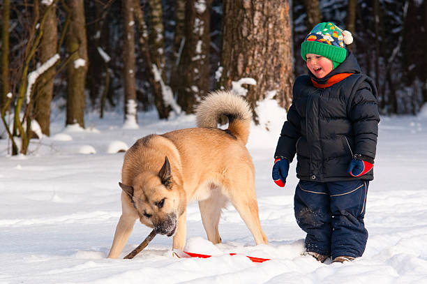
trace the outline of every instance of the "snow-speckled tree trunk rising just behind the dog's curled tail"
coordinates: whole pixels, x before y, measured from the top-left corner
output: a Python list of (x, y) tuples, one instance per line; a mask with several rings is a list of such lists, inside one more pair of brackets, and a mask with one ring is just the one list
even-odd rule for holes
[(193, 113), (195, 104), (209, 91), (211, 1), (186, 2), (186, 42), (179, 61), (178, 103), (186, 113)]

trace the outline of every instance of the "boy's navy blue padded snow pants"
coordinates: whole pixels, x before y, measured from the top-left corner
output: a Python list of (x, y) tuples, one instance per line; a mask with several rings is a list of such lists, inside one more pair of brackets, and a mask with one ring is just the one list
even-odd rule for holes
[(294, 197), (297, 223), (306, 236), (307, 251), (361, 257), (368, 231), (364, 216), (369, 181), (299, 181)]

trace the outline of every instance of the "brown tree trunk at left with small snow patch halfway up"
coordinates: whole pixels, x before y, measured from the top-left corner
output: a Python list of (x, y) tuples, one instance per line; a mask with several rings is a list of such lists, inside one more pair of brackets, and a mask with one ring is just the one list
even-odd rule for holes
[(67, 65), (66, 125), (79, 124), (84, 127), (84, 82), (89, 63), (84, 4), (83, 0), (73, 0), (68, 3), (71, 19), (66, 36), (66, 50), (70, 56), (70, 62)]

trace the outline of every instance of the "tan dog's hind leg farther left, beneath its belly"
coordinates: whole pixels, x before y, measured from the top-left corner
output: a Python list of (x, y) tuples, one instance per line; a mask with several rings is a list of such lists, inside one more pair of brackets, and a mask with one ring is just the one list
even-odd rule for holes
[(218, 188), (212, 190), (211, 196), (206, 200), (199, 201), (200, 215), (206, 231), (207, 238), (212, 244), (219, 244), (221, 237), (218, 231), (221, 210), (225, 207), (227, 198), (220, 193)]

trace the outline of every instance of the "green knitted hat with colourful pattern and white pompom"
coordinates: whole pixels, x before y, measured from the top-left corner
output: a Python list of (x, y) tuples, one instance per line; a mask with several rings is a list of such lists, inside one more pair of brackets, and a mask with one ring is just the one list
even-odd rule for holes
[(332, 22), (317, 24), (301, 44), (301, 57), (307, 61), (306, 54), (317, 54), (334, 63), (334, 69), (347, 57), (345, 45), (353, 42), (352, 33), (343, 31)]

